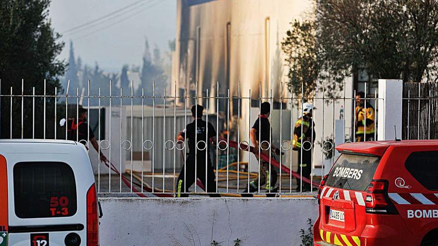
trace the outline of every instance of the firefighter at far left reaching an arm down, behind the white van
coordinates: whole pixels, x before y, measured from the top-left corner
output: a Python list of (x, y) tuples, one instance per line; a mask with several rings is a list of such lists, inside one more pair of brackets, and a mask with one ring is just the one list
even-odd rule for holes
[[(69, 119), (67, 121), (67, 138), (68, 140), (77, 141), (83, 145), (86, 145), (85, 143), (90, 141), (91, 145), (94, 147), (94, 149), (99, 153), (99, 144), (96, 140), (96, 137), (94, 136), (93, 130), (88, 125), (87, 122), (88, 119), (88, 111), (87, 109), (80, 107), (78, 109), (78, 119), (75, 120)], [(87, 138), (88, 136), (88, 138)], [(104, 163), (108, 161), (107, 157), (100, 152), (100, 160)]]

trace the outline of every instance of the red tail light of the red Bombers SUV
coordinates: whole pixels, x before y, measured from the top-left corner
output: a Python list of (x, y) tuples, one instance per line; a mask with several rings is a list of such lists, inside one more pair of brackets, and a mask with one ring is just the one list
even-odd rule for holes
[(365, 207), (367, 213), (398, 214), (388, 197), (387, 180), (371, 181), (367, 188)]

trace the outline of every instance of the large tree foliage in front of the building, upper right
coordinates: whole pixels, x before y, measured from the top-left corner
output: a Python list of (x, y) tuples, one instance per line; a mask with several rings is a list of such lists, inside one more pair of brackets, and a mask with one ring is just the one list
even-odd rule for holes
[(438, 79), (436, 0), (315, 0), (312, 16), (292, 22), (283, 41), (288, 66), (298, 70), (289, 73), (291, 88), (325, 81), (335, 93), (358, 69), (373, 80)]

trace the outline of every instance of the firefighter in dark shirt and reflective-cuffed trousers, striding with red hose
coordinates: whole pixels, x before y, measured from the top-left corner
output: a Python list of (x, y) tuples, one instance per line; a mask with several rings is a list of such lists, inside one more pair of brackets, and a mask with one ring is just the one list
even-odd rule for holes
[[(271, 124), (269, 122), (269, 115), (271, 113), (271, 105), (269, 102), (263, 102), (260, 105), (260, 115), (249, 131), (249, 136), (251, 139), (251, 143), (254, 144), (253, 153), (256, 156), (257, 160), (259, 160), (259, 152), (266, 154), (269, 156), (269, 151), (277, 155), (283, 155), (284, 153), (280, 152), (280, 149), (276, 148), (270, 141), (270, 137), (272, 134)], [(270, 144), (269, 144), (270, 143)], [(273, 157), (273, 155), (272, 155)], [(269, 170), (270, 169), (270, 170)], [(276, 193), (278, 191), (278, 187), (275, 188), (277, 183), (277, 171), (274, 167), (269, 168), (269, 162), (260, 160), (260, 176), (256, 177), (249, 183), (249, 191), (248, 188), (243, 191), (242, 196), (252, 196), (252, 194), (259, 189), (259, 186), (265, 185), (267, 193)], [(259, 183), (260, 179), (260, 183)], [(246, 194), (245, 194), (246, 193)], [(275, 194), (269, 194), (267, 196), (272, 196)]]

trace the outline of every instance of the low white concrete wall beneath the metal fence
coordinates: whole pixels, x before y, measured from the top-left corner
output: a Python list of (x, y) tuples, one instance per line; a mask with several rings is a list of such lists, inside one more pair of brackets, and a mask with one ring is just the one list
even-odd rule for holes
[[(102, 246), (299, 246), (313, 198), (101, 198)], [(212, 233), (213, 231), (213, 233)], [(193, 239), (195, 242), (193, 242)]]

